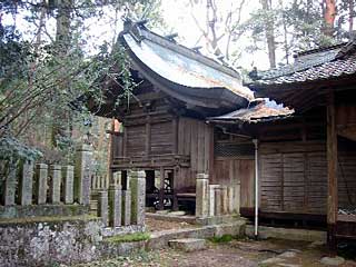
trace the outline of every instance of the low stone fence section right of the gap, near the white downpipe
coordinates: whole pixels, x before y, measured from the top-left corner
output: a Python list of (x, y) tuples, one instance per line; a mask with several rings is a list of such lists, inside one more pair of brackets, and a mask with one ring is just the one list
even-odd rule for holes
[(208, 175), (197, 175), (197, 218), (239, 214), (239, 198), (240, 185), (210, 185)]

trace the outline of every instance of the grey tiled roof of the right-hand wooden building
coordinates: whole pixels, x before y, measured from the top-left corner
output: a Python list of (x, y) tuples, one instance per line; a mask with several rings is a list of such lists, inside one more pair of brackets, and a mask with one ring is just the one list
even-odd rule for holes
[(307, 110), (323, 102), (325, 89), (339, 90), (355, 81), (355, 41), (307, 51), (294, 65), (258, 73), (249, 88), (257, 97), (269, 97), (298, 111)]

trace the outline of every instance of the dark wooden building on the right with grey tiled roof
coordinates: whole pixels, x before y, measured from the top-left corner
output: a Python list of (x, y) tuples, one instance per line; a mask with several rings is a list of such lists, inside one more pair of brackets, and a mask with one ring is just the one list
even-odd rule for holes
[(253, 77), (258, 97), (295, 113), (247, 109), (211, 121), (258, 139), (260, 216), (327, 222), (332, 245), (355, 238), (356, 43), (299, 53), (294, 65)]

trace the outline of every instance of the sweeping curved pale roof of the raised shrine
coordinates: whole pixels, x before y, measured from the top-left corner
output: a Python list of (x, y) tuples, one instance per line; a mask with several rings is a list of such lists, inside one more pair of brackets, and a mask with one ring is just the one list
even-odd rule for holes
[(253, 91), (241, 85), (238, 72), (144, 26), (130, 23), (119, 40), (141, 75), (164, 83), (164, 89), (170, 90), (168, 93), (221, 101), (230, 108), (244, 107), (254, 99)]

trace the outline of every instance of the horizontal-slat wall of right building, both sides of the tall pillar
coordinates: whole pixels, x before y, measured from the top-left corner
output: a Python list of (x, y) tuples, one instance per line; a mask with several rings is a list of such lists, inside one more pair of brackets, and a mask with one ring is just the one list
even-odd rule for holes
[[(260, 209), (326, 214), (327, 161), (323, 141), (260, 144)], [(356, 151), (343, 151), (338, 162), (340, 208), (356, 202)]]

